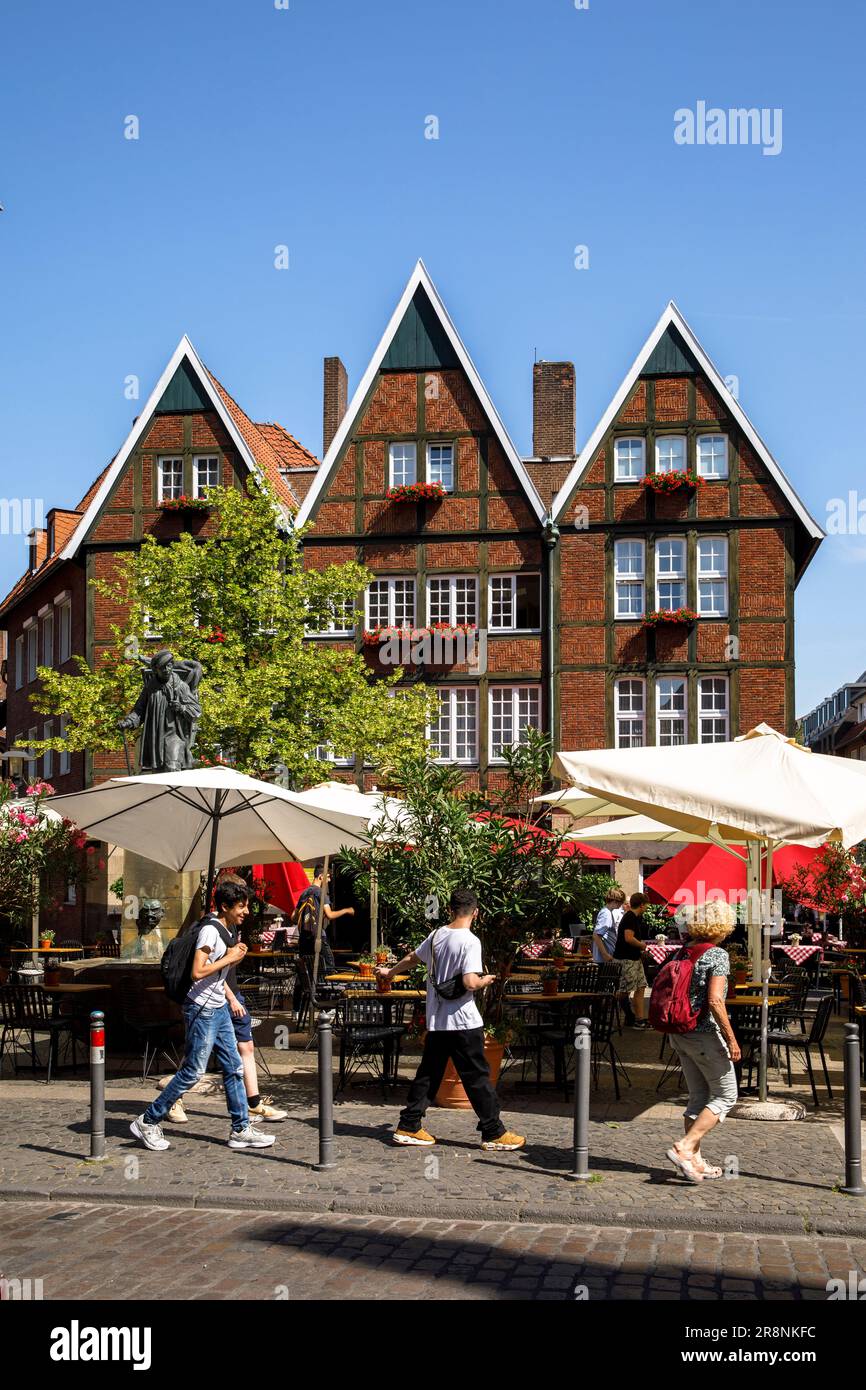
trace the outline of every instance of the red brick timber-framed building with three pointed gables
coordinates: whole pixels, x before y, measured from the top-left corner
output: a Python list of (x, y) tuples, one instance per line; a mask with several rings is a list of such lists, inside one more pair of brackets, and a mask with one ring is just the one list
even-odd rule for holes
[[(43, 733), (28, 699), (36, 664), (95, 662), (110, 641), (120, 614), (88, 580), (146, 534), (207, 534), (207, 516), (160, 502), (250, 471), (311, 524), (309, 564), (354, 559), (375, 575), (363, 610), (311, 642), (354, 644), (375, 673), (379, 628), (484, 634), (473, 653), (428, 652), (405, 677), (436, 687), (434, 748), (471, 785), (502, 780), (502, 749), (527, 724), (564, 749), (724, 739), (759, 720), (792, 733), (794, 589), (822, 531), (676, 306), (580, 455), (573, 364), (535, 363), (532, 379), (523, 459), (418, 263), (350, 403), (345, 367), (325, 359), (320, 466), (279, 425), (254, 424), (182, 339), (111, 464), (33, 532), (0, 605), (8, 745), (24, 755)], [(701, 485), (657, 495), (641, 482), (671, 470)], [(443, 496), (388, 498), (414, 484)], [(645, 628), (678, 607), (696, 617)], [(339, 776), (370, 783), (338, 752)], [(125, 769), (54, 753), (26, 770), (71, 791)]]

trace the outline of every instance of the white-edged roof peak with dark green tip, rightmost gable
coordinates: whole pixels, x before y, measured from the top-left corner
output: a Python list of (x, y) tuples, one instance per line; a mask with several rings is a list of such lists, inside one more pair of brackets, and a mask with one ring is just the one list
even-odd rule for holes
[[(671, 329), (674, 332), (671, 334)], [(678, 360), (674, 361), (673, 345), (678, 343)], [(657, 349), (657, 352), (656, 352)], [(678, 364), (677, 364), (678, 363)], [(562, 517), (564, 507), (567, 506), (571, 492), (582, 478), (584, 473), (592, 463), (599, 443), (605, 438), (607, 430), (616, 420), (626, 400), (628, 399), (632, 386), (635, 385), (638, 377), (642, 373), (664, 373), (664, 371), (684, 371), (692, 370), (692, 364), (706, 377), (713, 391), (724, 400), (731, 416), (742, 430), (744, 435), (755, 449), (758, 457), (763, 463), (765, 468), (770, 474), (773, 482), (780, 489), (785, 500), (790, 503), (796, 520), (802, 527), (802, 563), (799, 566), (799, 573), (805, 570), (806, 564), (812, 559), (819, 543), (824, 539), (824, 532), (809, 513), (805, 503), (799, 499), (787, 477), (781, 471), (776, 459), (767, 449), (766, 443), (755, 430), (755, 425), (746, 416), (745, 410), (740, 402), (733, 396), (719, 373), (713, 366), (710, 359), (706, 356), (703, 348), (698, 342), (695, 334), (687, 324), (685, 318), (674, 304), (673, 299), (666, 306), (662, 317), (652, 329), (649, 338), (641, 348), (634, 363), (626, 373), (619, 391), (616, 392), (613, 400), (607, 406), (607, 410), (599, 420), (598, 425), (592, 431), (587, 445), (577, 457), (574, 467), (570, 470), (569, 477), (559, 489), (556, 498), (553, 499), (553, 518), (557, 521)]]

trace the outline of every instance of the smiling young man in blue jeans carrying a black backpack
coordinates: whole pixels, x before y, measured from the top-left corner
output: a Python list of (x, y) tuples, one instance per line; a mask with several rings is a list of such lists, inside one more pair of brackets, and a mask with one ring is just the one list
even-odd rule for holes
[(183, 997), (186, 1045), (181, 1069), (129, 1126), (145, 1148), (154, 1152), (171, 1148), (160, 1122), (175, 1101), (204, 1076), (211, 1052), (217, 1054), (222, 1070), (225, 1104), (232, 1120), (228, 1147), (270, 1148), (274, 1143), (272, 1134), (263, 1134), (250, 1125), (243, 1062), (225, 994), (229, 970), (246, 955), (246, 947), (236, 942), (236, 933), (249, 912), (247, 898), (243, 884), (221, 883), (214, 892), (215, 913), (204, 917), (190, 933), (175, 937), (163, 956), (163, 979), (170, 995), (175, 997), (186, 983), (189, 988)]

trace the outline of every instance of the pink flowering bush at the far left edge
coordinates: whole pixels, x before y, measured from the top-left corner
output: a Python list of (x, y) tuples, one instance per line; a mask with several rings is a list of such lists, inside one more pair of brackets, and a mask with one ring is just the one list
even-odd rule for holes
[(25, 926), (35, 912), (58, 908), (67, 884), (88, 883), (103, 860), (88, 852), (88, 837), (65, 816), (47, 816), (54, 795), (46, 781), (26, 788), (26, 801), (0, 781), (0, 913)]

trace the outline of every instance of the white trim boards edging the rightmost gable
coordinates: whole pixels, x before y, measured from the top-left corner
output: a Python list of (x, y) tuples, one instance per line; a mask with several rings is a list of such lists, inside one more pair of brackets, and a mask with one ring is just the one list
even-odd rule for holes
[(637, 379), (638, 379), (638, 377), (641, 374), (641, 368), (644, 367), (644, 363), (651, 356), (653, 348), (656, 346), (656, 343), (662, 338), (662, 334), (667, 328), (670, 328), (670, 327), (676, 328), (683, 335), (683, 338), (685, 339), (685, 343), (688, 345), (692, 356), (695, 357), (695, 360), (698, 361), (698, 366), (701, 367), (703, 375), (708, 378), (710, 386), (713, 386), (713, 389), (716, 391), (716, 395), (719, 395), (726, 402), (726, 404), (727, 404), (730, 413), (733, 414), (734, 420), (737, 421), (737, 424), (742, 430), (744, 435), (746, 436), (746, 439), (749, 441), (749, 443), (755, 449), (755, 453), (758, 455), (758, 457), (760, 459), (760, 461), (766, 467), (767, 473), (770, 474), (770, 477), (776, 482), (776, 485), (780, 489), (780, 492), (783, 493), (783, 496), (785, 496), (787, 500), (791, 503), (791, 509), (795, 512), (795, 514), (798, 516), (798, 518), (802, 521), (802, 524), (806, 528), (808, 534), (815, 541), (823, 541), (824, 539), (823, 530), (820, 528), (820, 525), (817, 524), (817, 521), (815, 520), (815, 517), (809, 513), (809, 510), (806, 509), (805, 503), (799, 499), (799, 496), (796, 495), (796, 492), (794, 491), (794, 488), (788, 482), (787, 477), (781, 471), (780, 466), (776, 463), (776, 459), (773, 457), (773, 455), (767, 449), (766, 443), (763, 442), (763, 439), (760, 438), (760, 435), (755, 430), (755, 425), (752, 424), (752, 421), (746, 416), (746, 413), (742, 409), (742, 406), (740, 404), (740, 402), (735, 400), (734, 396), (731, 396), (731, 393), (728, 392), (727, 386), (724, 385), (724, 381), (723, 381), (721, 375), (719, 374), (719, 371), (716, 370), (716, 367), (710, 361), (710, 359), (706, 356), (703, 348), (701, 346), (701, 343), (695, 338), (694, 332), (691, 331), (691, 328), (685, 322), (685, 318), (683, 317), (683, 314), (680, 313), (680, 310), (674, 304), (673, 299), (667, 304), (667, 307), (664, 309), (662, 317), (659, 318), (659, 321), (655, 325), (653, 331), (651, 332), (649, 338), (646, 339), (646, 342), (641, 348), (638, 356), (635, 357), (635, 360), (632, 361), (631, 367), (628, 368), (628, 373), (626, 374), (626, 377), (624, 377), (624, 379), (623, 379), (623, 382), (621, 382), (621, 385), (620, 385), (616, 396), (613, 398), (613, 400), (607, 406), (607, 410), (605, 411), (605, 414), (599, 420), (598, 425), (595, 427), (592, 435), (589, 436), (589, 441), (587, 442), (587, 445), (584, 446), (582, 452), (580, 453), (580, 456), (577, 459), (577, 463), (571, 468), (569, 477), (566, 478), (566, 481), (563, 482), (562, 488), (559, 489), (559, 492), (553, 498), (553, 505), (552, 505), (553, 518), (556, 521), (562, 520), (562, 513), (564, 512), (564, 507), (566, 507), (566, 505), (569, 502), (569, 498), (570, 498), (571, 492), (574, 491), (575, 485), (581, 480), (584, 471), (592, 463), (592, 459), (595, 457), (595, 452), (596, 452), (599, 443), (602, 442), (602, 439), (607, 434), (607, 430), (610, 428), (610, 425), (616, 420), (617, 414), (620, 413), (620, 410), (626, 404), (626, 400), (631, 395), (631, 389), (635, 385), (635, 382), (637, 382)]

